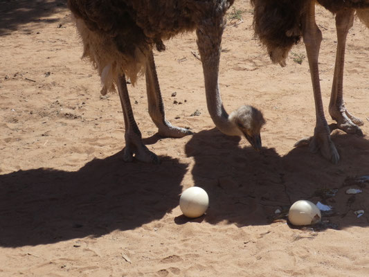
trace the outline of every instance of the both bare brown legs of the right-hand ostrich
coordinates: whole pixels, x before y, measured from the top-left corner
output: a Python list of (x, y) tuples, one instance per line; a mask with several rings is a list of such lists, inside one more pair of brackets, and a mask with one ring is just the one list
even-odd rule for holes
[(303, 40), (307, 51), (310, 74), (312, 76), (312, 86), (316, 107), (316, 127), (314, 136), (310, 139), (303, 139), (296, 143), (301, 145), (309, 141), (309, 148), (312, 152), (320, 151), (323, 157), (332, 163), (338, 163), (339, 153), (330, 139), (332, 129), (342, 129), (350, 134), (363, 136), (363, 132), (358, 125), (363, 125), (363, 121), (352, 116), (345, 107), (343, 101), (343, 66), (345, 60), (345, 42), (348, 30), (353, 25), (354, 9), (346, 8), (336, 12), (337, 31), (337, 51), (336, 63), (334, 66), (334, 78), (332, 83), (332, 93), (330, 98), (330, 115), (337, 124), (327, 125), (321, 100), (321, 86), (319, 82), (318, 55), (321, 45), (321, 30), (316, 26), (315, 21), (315, 1), (309, 1), (305, 15), (303, 15)]

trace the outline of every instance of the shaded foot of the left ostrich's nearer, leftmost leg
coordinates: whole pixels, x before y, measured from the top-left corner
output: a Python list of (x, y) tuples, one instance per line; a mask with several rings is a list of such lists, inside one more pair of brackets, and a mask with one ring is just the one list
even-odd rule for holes
[(141, 141), (141, 139), (125, 139), (125, 148), (123, 150), (123, 161), (132, 162), (134, 159), (144, 163), (160, 163), (159, 157), (151, 152)]

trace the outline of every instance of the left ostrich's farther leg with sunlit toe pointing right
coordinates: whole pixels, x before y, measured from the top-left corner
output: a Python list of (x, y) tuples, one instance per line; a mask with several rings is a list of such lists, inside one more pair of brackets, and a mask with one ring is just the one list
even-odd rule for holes
[(152, 51), (147, 59), (145, 75), (149, 114), (156, 127), (158, 127), (159, 135), (171, 138), (181, 138), (188, 134), (192, 134), (189, 129), (175, 127), (165, 119), (163, 99), (161, 98), (159, 80), (156, 74), (154, 55), (152, 54)]

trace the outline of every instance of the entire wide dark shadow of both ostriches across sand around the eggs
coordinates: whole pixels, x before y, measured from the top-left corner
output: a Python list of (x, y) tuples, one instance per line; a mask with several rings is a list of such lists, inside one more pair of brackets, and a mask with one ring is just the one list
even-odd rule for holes
[[(369, 141), (338, 134), (333, 141), (341, 161), (332, 165), (307, 148), (287, 155), (264, 148), (261, 153), (240, 148), (240, 139), (217, 129), (195, 134), (186, 154), (195, 166), (161, 157), (154, 166), (123, 163), (122, 152), (94, 159), (76, 172), (39, 168), (0, 175), (0, 246), (21, 247), (100, 236), (114, 230), (129, 230), (160, 220), (178, 206), (181, 181), (192, 174), (195, 186), (210, 198), (206, 216), (195, 222), (235, 223), (237, 226), (270, 224), (277, 208), (298, 199), (321, 201), (335, 208), (323, 219), (339, 228), (368, 226), (369, 191), (346, 195), (348, 177), (369, 174)], [(334, 197), (325, 194), (338, 189)], [(180, 216), (177, 224), (188, 219)]]

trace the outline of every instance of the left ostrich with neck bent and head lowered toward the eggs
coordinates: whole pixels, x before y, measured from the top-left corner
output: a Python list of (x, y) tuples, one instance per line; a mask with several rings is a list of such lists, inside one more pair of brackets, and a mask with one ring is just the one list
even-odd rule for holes
[(206, 102), (217, 128), (230, 136), (245, 136), (260, 150), (262, 113), (242, 106), (227, 114), (218, 85), (219, 57), (225, 13), (234, 0), (68, 0), (75, 25), (88, 57), (102, 80), (101, 93), (118, 87), (125, 120), (123, 159), (158, 163), (159, 158), (143, 144), (129, 101), (126, 77), (136, 82), (145, 73), (149, 114), (161, 136), (182, 137), (188, 129), (174, 127), (165, 118), (156, 74), (153, 48), (163, 51), (163, 40), (196, 30), (204, 71)]

